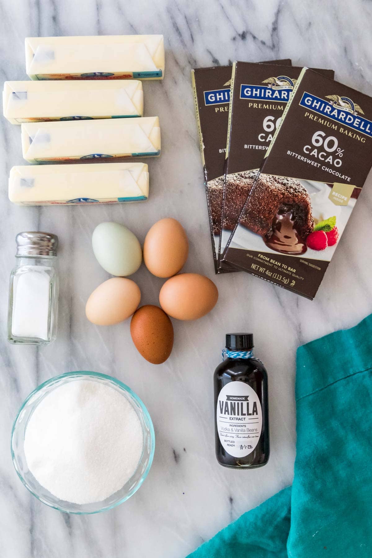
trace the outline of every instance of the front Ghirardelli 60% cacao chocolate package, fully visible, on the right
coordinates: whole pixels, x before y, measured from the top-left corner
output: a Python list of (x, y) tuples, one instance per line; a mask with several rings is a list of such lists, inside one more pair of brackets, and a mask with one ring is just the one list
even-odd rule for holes
[(372, 98), (304, 68), (225, 258), (315, 297), (372, 165)]

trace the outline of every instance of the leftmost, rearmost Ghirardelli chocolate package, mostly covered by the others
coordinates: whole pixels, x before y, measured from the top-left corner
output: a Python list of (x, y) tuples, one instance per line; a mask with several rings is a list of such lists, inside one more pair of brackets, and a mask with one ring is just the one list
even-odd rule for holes
[[(272, 62), (272, 64), (274, 63), (291, 65), (291, 60), (277, 60)], [(253, 66), (257, 65), (259, 64), (253, 64)], [(192, 70), (191, 78), (204, 170), (212, 252), (215, 270), (218, 272), (231, 66)], [(225, 271), (229, 271), (228, 266), (225, 266)]]

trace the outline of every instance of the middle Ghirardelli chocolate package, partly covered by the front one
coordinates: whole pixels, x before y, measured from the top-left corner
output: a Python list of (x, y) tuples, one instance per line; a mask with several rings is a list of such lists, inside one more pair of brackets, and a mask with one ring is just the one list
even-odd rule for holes
[[(234, 62), (231, 78), (229, 126), (226, 145), (223, 216), (220, 224), (219, 260), (238, 224), (265, 152), (302, 67)], [(333, 70), (317, 69), (334, 78)], [(244, 218), (242, 220), (244, 223)]]

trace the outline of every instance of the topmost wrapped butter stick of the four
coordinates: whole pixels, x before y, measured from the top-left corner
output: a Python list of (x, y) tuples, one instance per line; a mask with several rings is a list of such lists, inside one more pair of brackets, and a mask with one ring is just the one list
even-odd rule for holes
[(31, 79), (163, 79), (162, 35), (28, 37)]

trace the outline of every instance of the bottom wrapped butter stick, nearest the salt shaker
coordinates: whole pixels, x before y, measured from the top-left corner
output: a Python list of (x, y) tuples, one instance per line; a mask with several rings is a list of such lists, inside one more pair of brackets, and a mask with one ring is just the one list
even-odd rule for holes
[(80, 163), (12, 167), (9, 200), (19, 205), (141, 201), (148, 198), (145, 163)]

